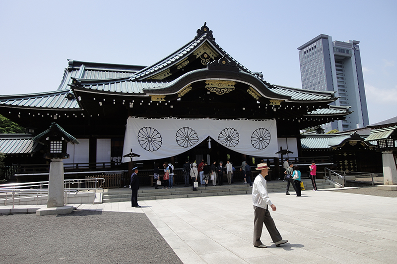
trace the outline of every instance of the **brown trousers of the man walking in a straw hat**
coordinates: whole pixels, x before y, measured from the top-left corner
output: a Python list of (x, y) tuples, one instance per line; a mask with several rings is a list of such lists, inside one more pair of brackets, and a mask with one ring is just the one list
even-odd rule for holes
[(282, 239), (278, 232), (273, 218), (271, 218), (270, 211), (265, 208), (254, 206), (254, 246), (262, 245), (261, 235), (263, 226), (266, 226), (273, 243)]

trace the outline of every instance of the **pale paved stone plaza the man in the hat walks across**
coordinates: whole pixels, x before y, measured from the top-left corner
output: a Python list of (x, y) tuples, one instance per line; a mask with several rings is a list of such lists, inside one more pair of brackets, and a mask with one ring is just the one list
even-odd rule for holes
[(271, 215), (289, 242), (275, 247), (264, 228), (266, 249), (252, 244), (251, 195), (147, 200), (139, 202), (142, 208), (131, 202), (74, 206), (145, 213), (184, 264), (396, 263), (397, 198), (311, 190), (270, 198), (277, 207)]

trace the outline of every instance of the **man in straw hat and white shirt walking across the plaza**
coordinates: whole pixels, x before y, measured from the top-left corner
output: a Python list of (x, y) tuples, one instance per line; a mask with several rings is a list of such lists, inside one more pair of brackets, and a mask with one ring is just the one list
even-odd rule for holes
[(255, 178), (252, 188), (252, 202), (254, 204), (254, 247), (266, 248), (266, 246), (261, 242), (262, 228), (264, 224), (273, 240), (273, 243), (279, 247), (281, 244), (287, 243), (288, 240), (282, 239), (276, 225), (274, 224), (273, 218), (271, 218), (270, 211), (267, 209), (268, 206), (270, 206), (273, 211), (276, 211), (276, 207), (271, 203), (266, 188), (265, 176), (267, 175), (269, 168), (266, 163), (261, 163), (258, 164), (256, 169), (260, 170), (261, 173)]

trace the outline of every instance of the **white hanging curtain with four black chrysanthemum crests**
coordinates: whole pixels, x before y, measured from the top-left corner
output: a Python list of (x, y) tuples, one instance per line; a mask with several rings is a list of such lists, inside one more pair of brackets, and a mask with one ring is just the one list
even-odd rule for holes
[[(184, 153), (210, 136), (235, 152), (257, 157), (277, 157), (277, 128), (274, 119), (127, 119), (123, 156), (133, 160), (168, 158)], [(130, 161), (123, 158), (122, 162)]]

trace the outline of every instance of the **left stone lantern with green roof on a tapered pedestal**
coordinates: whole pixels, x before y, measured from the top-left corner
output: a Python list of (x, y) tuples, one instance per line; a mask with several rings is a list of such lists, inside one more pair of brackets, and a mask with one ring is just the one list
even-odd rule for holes
[(50, 128), (33, 138), (47, 147), (44, 158), (51, 159), (50, 175), (48, 179), (47, 208), (36, 211), (36, 214), (66, 214), (73, 211), (72, 206), (65, 206), (64, 200), (64, 158), (69, 158), (66, 153), (67, 143), (79, 144), (78, 140), (60, 127), (52, 123)]

